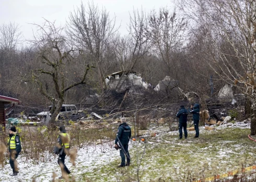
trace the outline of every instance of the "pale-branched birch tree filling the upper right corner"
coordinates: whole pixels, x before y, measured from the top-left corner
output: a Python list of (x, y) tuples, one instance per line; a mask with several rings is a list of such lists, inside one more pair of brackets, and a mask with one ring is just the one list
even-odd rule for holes
[(204, 26), (211, 51), (202, 52), (220, 79), (250, 101), (251, 135), (256, 134), (256, 3), (253, 0), (182, 1), (184, 14)]

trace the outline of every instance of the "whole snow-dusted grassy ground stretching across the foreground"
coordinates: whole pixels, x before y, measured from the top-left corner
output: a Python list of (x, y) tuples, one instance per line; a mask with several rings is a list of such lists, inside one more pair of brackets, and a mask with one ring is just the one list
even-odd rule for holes
[[(146, 146), (139, 170), (141, 181), (157, 180), (160, 177), (176, 181), (176, 176), (180, 176), (177, 174), (185, 174), (188, 170), (198, 176), (202, 175), (202, 170), (206, 171), (206, 175), (218, 174), (235, 170), (243, 157), (252, 160), (256, 143), (247, 138), (248, 128), (250, 123), (243, 122), (216, 126), (215, 131), (206, 131), (204, 127), (200, 127), (200, 138), (194, 139), (195, 132), (189, 132), (187, 140), (178, 140), (178, 131), (168, 132), (168, 126), (164, 125), (144, 131), (146, 144), (130, 144), (130, 167), (117, 168), (121, 161), (119, 151), (107, 144), (79, 149), (76, 166), (72, 166), (69, 157), (66, 157), (66, 165), (76, 181), (122, 181), (129, 176), (130, 181), (136, 181), (137, 162)], [(158, 134), (151, 138), (150, 132)], [(232, 132), (239, 134), (241, 138), (236, 138), (235, 134), (232, 136)], [(224, 134), (229, 138), (223, 137)], [(255, 162), (245, 165), (253, 163)], [(57, 157), (54, 155), (49, 156), (48, 162), (38, 163), (27, 162), (20, 155), (18, 167), (19, 174), (15, 177), (9, 176), (12, 172), (7, 161), (7, 164), (0, 168), (0, 181), (32, 181), (32, 178), (36, 178), (36, 181), (52, 181), (53, 172), (57, 177), (61, 176)]]

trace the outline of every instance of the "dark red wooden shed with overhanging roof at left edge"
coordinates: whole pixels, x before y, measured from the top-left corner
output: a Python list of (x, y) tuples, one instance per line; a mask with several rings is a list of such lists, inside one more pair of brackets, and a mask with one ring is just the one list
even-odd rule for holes
[[(3, 125), (5, 127), (5, 113), (8, 112), (10, 109), (14, 108), (15, 103), (19, 103), (19, 100), (0, 95), (0, 125)], [(5, 109), (6, 104), (10, 104), (12, 106)]]

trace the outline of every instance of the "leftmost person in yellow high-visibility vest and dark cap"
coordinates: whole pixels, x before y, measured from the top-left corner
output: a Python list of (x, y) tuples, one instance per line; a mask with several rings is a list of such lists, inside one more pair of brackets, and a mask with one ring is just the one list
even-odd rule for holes
[[(21, 152), (21, 143), (19, 134), (16, 133), (16, 127), (11, 126), (9, 128), (9, 139), (8, 139), (8, 149), (10, 152), (10, 167), (13, 169), (13, 174), (11, 176), (17, 176), (19, 173), (17, 169), (16, 159), (18, 158), (19, 153)], [(16, 163), (17, 164), (17, 163)]]

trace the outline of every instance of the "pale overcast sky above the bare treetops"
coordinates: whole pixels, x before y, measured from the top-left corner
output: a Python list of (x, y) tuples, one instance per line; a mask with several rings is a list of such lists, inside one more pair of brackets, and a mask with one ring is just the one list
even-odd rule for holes
[[(0, 24), (15, 22), (20, 25), (20, 30), (25, 39), (32, 38), (33, 25), (29, 23), (42, 24), (43, 18), (54, 21), (57, 24), (65, 24), (68, 20), (69, 12), (74, 8), (88, 1), (81, 0), (0, 0)], [(91, 1), (89, 1), (91, 2)], [(135, 9), (150, 12), (152, 9), (158, 10), (160, 7), (168, 7), (173, 10), (171, 0), (94, 0), (94, 4), (99, 7), (106, 7), (110, 16), (117, 17), (117, 24), (121, 23), (119, 32), (126, 34), (126, 25), (129, 23), (129, 12)]]

